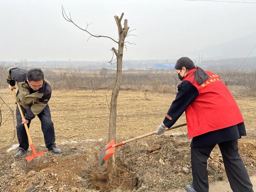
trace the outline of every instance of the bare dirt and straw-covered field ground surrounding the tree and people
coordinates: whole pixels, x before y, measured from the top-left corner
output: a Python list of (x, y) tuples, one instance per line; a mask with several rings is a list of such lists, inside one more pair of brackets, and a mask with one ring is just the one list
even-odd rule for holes
[[(0, 94), (14, 108), (12, 92), (5, 89)], [(117, 176), (111, 184), (107, 183), (106, 165), (99, 167), (99, 153), (108, 143), (110, 110), (106, 97), (110, 103), (110, 90), (106, 93), (105, 90), (54, 90), (49, 106), (56, 144), (63, 153), (47, 152), (36, 117), (30, 125), (31, 136), (37, 151), (43, 150), (46, 155), (30, 163), (25, 158), (14, 159), (16, 149), (10, 153), (6, 151), (18, 143), (16, 137), (12, 139), (13, 124), (9, 117), (0, 129), (0, 191), (181, 191), (184, 184), (191, 183), (190, 139), (186, 127), (118, 147)], [(117, 142), (155, 131), (174, 98), (174, 94), (147, 92), (145, 99), (144, 92), (120, 91)], [(255, 175), (256, 98), (235, 99), (247, 129), (247, 136), (239, 141), (239, 150), (248, 173)], [(4, 120), (9, 115), (7, 110), (6, 107), (2, 109)], [(185, 115), (176, 124), (183, 122)], [(217, 147), (208, 163), (210, 183), (227, 181)], [(28, 177), (29, 172), (34, 175)]]

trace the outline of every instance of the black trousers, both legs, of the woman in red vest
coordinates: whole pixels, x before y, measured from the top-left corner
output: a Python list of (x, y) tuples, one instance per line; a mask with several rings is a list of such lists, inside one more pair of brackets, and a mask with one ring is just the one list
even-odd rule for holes
[[(243, 160), (238, 152), (238, 141), (226, 141), (218, 144), (231, 189), (234, 192), (253, 192)], [(191, 165), (193, 188), (197, 192), (208, 192), (207, 159), (215, 145), (210, 147), (191, 147)]]

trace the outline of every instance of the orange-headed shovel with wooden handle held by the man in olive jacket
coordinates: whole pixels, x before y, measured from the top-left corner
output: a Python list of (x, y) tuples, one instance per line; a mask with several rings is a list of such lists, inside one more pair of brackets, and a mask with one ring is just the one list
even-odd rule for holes
[[(16, 98), (16, 91), (15, 91), (15, 89), (13, 89), (13, 94), (14, 94), (14, 97)], [(18, 104), (18, 102), (17, 102), (17, 105), (18, 105), (18, 108), (19, 108), (19, 113), (20, 113), (20, 115), (22, 116), (22, 119), (25, 119), (24, 114), (23, 114), (23, 111), (22, 111), (22, 108), (20, 107), (20, 104)], [(34, 159), (35, 157), (37, 157), (37, 156), (39, 156), (39, 155), (44, 155), (44, 152), (43, 152), (43, 151), (40, 151), (40, 152), (37, 153), (37, 152), (35, 151), (35, 147), (34, 147), (34, 145), (33, 145), (31, 136), (30, 136), (29, 131), (28, 131), (28, 125), (27, 125), (27, 123), (24, 123), (24, 126), (25, 126), (25, 129), (26, 129), (27, 135), (28, 135), (28, 143), (29, 143), (30, 148), (31, 148), (31, 150), (32, 150), (32, 155), (26, 157), (27, 162), (29, 162), (29, 161), (31, 161), (32, 159)]]

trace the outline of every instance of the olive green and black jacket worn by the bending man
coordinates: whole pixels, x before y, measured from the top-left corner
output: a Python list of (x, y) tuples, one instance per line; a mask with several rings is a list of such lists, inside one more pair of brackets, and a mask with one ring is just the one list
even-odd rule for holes
[(18, 89), (16, 102), (26, 109), (25, 119), (31, 120), (42, 112), (52, 95), (49, 82), (44, 79), (43, 87), (34, 93), (29, 93), (30, 87), (27, 82), (28, 70), (11, 67), (8, 69), (7, 83), (11, 86), (16, 84)]

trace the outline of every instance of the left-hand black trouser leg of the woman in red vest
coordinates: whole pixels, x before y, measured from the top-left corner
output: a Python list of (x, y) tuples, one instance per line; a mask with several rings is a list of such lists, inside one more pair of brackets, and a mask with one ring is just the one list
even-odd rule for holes
[(208, 192), (207, 160), (215, 145), (210, 147), (191, 147), (191, 166), (193, 188), (197, 192)]

